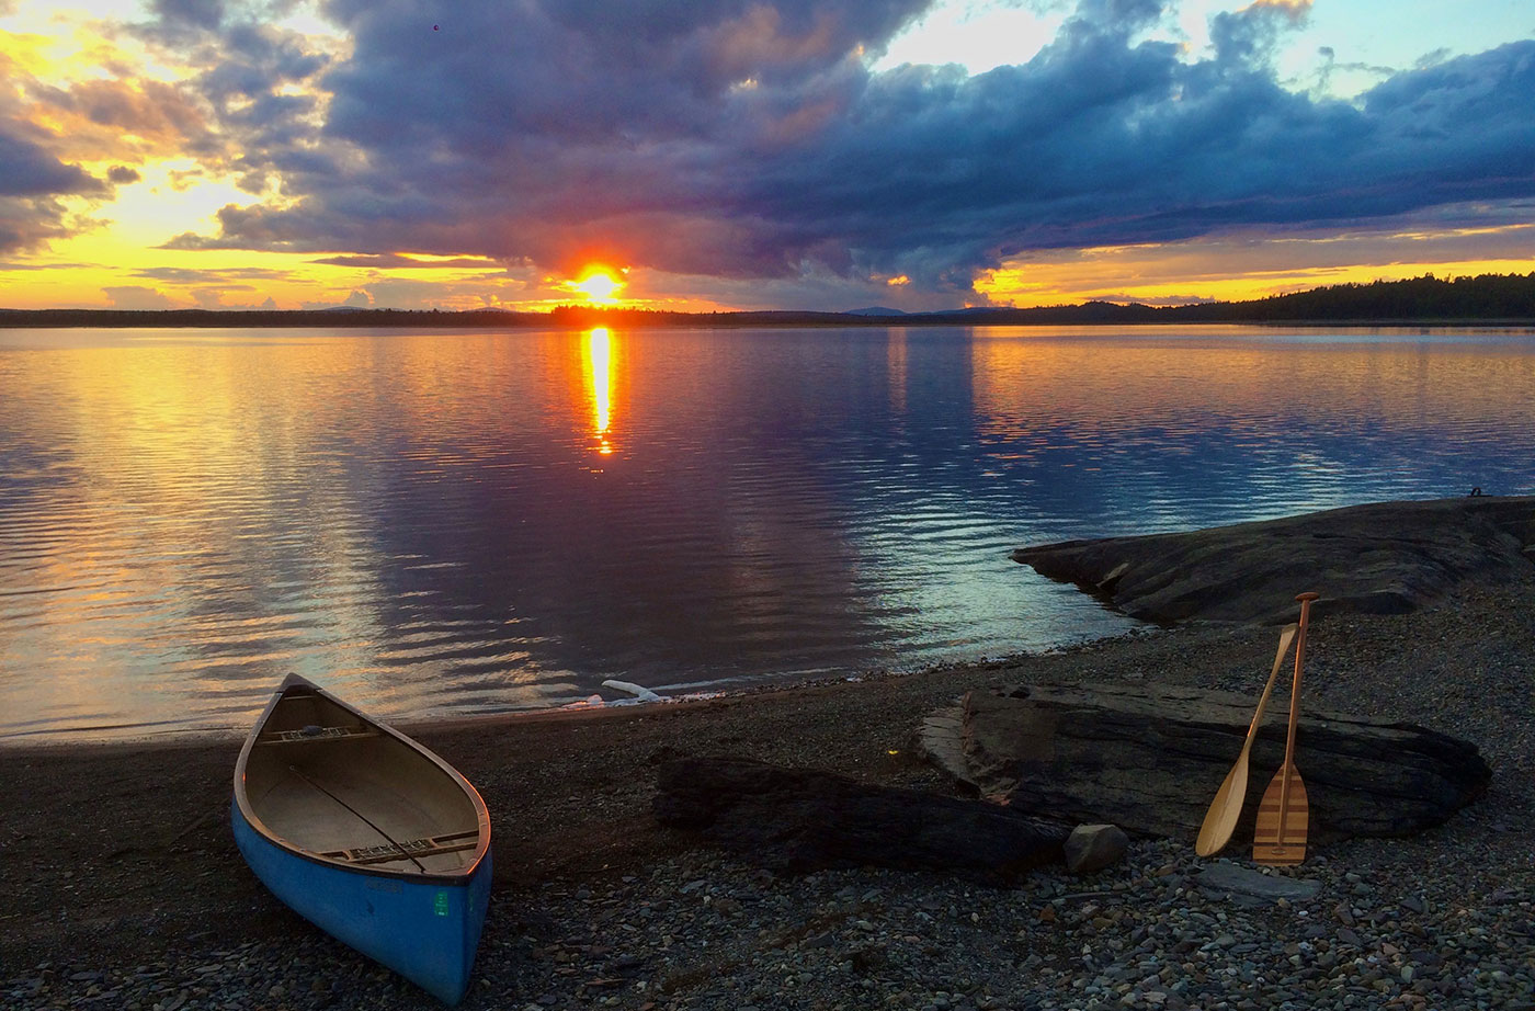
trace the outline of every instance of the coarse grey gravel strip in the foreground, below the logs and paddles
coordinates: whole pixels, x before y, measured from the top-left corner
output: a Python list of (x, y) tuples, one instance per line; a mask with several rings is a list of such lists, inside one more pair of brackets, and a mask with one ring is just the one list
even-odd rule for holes
[[(1199, 887), (1182, 844), (1134, 844), (1085, 878), (1021, 888), (930, 874), (775, 878), (715, 855), (546, 882), (493, 904), (465, 1008), (1535, 1008), (1535, 876), (1405, 893), (1315, 856), (1306, 902)], [(1426, 868), (1424, 868), (1426, 870)], [(393, 974), (295, 924), (281, 942), (141, 965), (41, 963), (6, 1006), (430, 1008)]]

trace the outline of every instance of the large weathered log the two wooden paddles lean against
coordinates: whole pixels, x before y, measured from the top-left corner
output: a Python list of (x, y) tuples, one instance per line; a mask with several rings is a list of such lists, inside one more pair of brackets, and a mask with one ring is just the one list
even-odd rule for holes
[[(958, 710), (929, 718), (921, 738), (956, 781), (1018, 810), (1193, 841), (1242, 750), (1253, 706), (1248, 695), (1173, 686), (1039, 684), (972, 692)], [(1283, 755), (1285, 720), (1271, 715), (1253, 746), (1234, 842), (1251, 839)], [(1314, 709), (1300, 718), (1296, 767), (1315, 841), (1421, 832), (1492, 779), (1466, 741)]]

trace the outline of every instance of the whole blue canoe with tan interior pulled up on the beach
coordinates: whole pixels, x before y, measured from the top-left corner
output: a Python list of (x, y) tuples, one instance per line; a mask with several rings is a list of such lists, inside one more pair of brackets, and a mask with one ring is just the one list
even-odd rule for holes
[(447, 1003), (490, 901), (490, 815), (451, 766), (289, 675), (239, 750), (235, 844), (304, 919)]

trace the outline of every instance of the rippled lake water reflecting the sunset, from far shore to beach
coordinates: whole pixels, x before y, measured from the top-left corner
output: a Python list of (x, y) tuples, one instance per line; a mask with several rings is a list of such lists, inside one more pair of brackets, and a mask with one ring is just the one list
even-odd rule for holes
[(1532, 391), (1529, 330), (0, 331), (0, 741), (1114, 634), (1008, 551), (1535, 492)]

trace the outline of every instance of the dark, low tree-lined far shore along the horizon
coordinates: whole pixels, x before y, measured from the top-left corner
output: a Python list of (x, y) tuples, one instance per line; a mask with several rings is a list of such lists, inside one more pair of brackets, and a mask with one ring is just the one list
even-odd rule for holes
[(0, 308), (0, 328), (20, 327), (413, 327), (468, 330), (510, 327), (990, 327), (990, 325), (1134, 325), (1134, 324), (1521, 324), (1535, 325), (1535, 272), (1438, 279), (1337, 284), (1274, 295), (1249, 302), (1197, 305), (1119, 305), (1084, 302), (1041, 308), (976, 307), (942, 313), (903, 313), (870, 307), (849, 313), (795, 310), (744, 313), (675, 313), (646, 308), (560, 305), (548, 313), (479, 308), (462, 313), (358, 308), (353, 311), (267, 311), (203, 308)]

